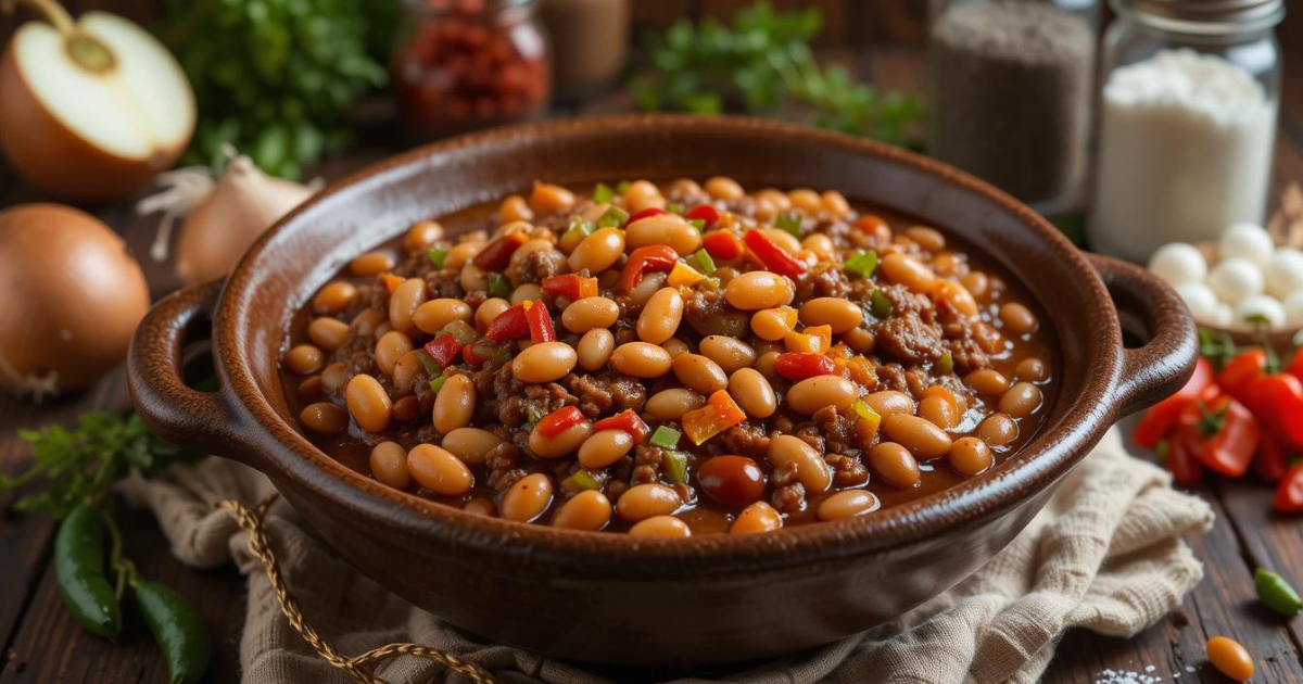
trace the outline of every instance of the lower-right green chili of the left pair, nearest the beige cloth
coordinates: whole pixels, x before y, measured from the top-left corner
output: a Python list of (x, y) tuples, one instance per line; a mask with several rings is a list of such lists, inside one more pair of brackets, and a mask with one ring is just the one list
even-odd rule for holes
[(163, 651), (172, 684), (198, 681), (208, 668), (212, 645), (199, 611), (167, 585), (139, 581), (133, 586), (136, 605)]

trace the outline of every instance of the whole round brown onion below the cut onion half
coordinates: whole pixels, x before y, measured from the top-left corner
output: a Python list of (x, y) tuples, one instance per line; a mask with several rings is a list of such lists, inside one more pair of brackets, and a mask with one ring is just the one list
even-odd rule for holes
[(0, 211), (0, 387), (31, 388), (51, 371), (59, 391), (87, 387), (126, 357), (149, 307), (139, 264), (94, 216)]

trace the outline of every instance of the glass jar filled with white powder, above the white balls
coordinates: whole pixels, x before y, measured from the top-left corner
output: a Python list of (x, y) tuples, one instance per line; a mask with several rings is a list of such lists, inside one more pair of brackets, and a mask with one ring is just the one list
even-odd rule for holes
[(1270, 190), (1283, 0), (1113, 0), (1088, 237), (1144, 262), (1261, 223)]

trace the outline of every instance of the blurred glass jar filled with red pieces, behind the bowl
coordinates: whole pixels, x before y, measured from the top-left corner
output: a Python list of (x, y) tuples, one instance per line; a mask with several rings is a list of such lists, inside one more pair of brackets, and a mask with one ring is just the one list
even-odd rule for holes
[(541, 117), (551, 95), (537, 0), (403, 0), (394, 91), (429, 139)]

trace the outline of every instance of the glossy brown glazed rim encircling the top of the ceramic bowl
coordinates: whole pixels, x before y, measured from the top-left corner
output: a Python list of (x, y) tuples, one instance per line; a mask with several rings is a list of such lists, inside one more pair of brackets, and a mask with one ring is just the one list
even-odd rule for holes
[[(309, 442), (292, 420), (287, 421), (272, 408), (278, 401), (283, 403), (283, 397), (268, 397), (259, 390), (251, 369), (259, 363), (266, 366), (267, 360), (254, 358), (254, 350), (265, 348), (261, 343), (266, 340), (262, 337), (268, 334), (284, 336), (288, 317), (293, 313), (293, 302), (287, 304), (287, 310), (276, 319), (274, 331), (250, 326), (249, 321), (253, 317), (249, 313), (254, 304), (255, 288), (249, 285), (257, 280), (251, 264), (259, 261), (263, 251), (276, 242), (287, 227), (296, 227), (300, 215), (328, 201), (343, 188), (367, 186), (370, 182), (375, 188), (367, 188), (369, 190), (383, 189), (378, 181), (386, 171), (418, 169), (422, 160), (438, 154), (520, 143), (523, 139), (566, 141), (581, 138), (585, 132), (597, 128), (633, 128), (662, 135), (666, 130), (678, 128), (732, 135), (749, 134), (757, 139), (783, 137), (812, 146), (839, 147), (856, 155), (872, 155), (891, 164), (913, 167), (915, 171), (939, 176), (955, 190), (976, 194), (994, 203), (998, 210), (1016, 218), (1028, 231), (1038, 233), (1040, 240), (1049, 242), (1049, 249), (1071, 271), (1065, 276), (1074, 280), (1075, 288), (1084, 288), (1084, 297), (1098, 302), (1098, 307), (1106, 310), (1105, 315), (1092, 317), (1095, 327), (1081, 343), (1087, 356), (1100, 363), (1096, 363), (1095, 373), (1081, 382), (1081, 392), (1078, 396), (1068, 397), (1062, 391), (1057, 393), (1055, 404), (1072, 403), (1059, 420), (1044, 425), (1023, 449), (979, 477), (855, 519), (783, 528), (764, 534), (710, 534), (689, 539), (649, 539), (627, 534), (560, 530), (469, 513), (422, 499), (414, 494), (386, 487), (336, 461)], [(1018, 276), (1018, 274), (1011, 275)], [(1113, 396), (1113, 387), (1118, 382), (1122, 366), (1121, 324), (1110, 302), (1108, 291), (1095, 275), (1095, 270), (1049, 221), (986, 182), (939, 162), (864, 138), (770, 120), (619, 115), (524, 124), (463, 135), (418, 147), (327, 186), (267, 231), (244, 255), (223, 288), (214, 317), (212, 339), (218, 373), (229, 392), (227, 396), (238, 400), (228, 408), (275, 436), (283, 447), (279, 452), (265, 455), (263, 468), (274, 479), (298, 481), (314, 490), (317, 495), (314, 503), (324, 500), (328, 506), (347, 509), (356, 524), (386, 528), (413, 542), (434, 539), (456, 545), (468, 555), (486, 552), (496, 559), (526, 565), (538, 564), (537, 567), (549, 567), (552, 571), (560, 564), (582, 573), (602, 571), (603, 575), (665, 578), (667, 568), (692, 573), (794, 568), (812, 562), (851, 559), (868, 551), (925, 543), (943, 529), (990, 520), (1040, 492), (1063, 476), (1078, 459), (1085, 456), (1109, 427), (1113, 417), (1111, 409), (1101, 405)], [(1061, 354), (1065, 332), (1067, 331), (1058, 330)], [(272, 347), (279, 344), (276, 340)], [(272, 369), (274, 366), (275, 360)], [(279, 386), (279, 382), (276, 384)], [(1101, 401), (1083, 401), (1083, 396), (1100, 397)], [(1053, 416), (1059, 406), (1049, 409), (1049, 414)], [(1089, 425), (1095, 429), (1087, 430)]]

